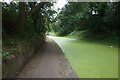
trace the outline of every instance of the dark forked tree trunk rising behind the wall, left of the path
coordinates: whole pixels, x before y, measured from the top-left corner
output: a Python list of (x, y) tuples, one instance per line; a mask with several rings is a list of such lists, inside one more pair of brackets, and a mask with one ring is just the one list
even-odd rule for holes
[(15, 32), (20, 33), (22, 29), (25, 26), (25, 22), (28, 19), (28, 16), (36, 12), (41, 6), (44, 6), (44, 4), (37, 4), (33, 7), (33, 9), (30, 12), (26, 12), (26, 4), (25, 2), (19, 2), (19, 15), (18, 20), (16, 22), (15, 26)]

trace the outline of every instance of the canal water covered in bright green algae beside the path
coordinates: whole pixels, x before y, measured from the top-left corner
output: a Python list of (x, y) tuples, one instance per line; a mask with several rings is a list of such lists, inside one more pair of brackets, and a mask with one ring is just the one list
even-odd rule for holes
[(66, 37), (48, 36), (61, 47), (80, 78), (118, 78), (118, 48)]

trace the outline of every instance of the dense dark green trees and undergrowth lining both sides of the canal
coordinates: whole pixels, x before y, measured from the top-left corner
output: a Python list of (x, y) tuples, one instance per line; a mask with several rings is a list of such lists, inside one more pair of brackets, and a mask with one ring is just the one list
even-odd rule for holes
[[(2, 3), (3, 58), (19, 51), (15, 46), (23, 41), (44, 41), (46, 31), (57, 35), (117, 42), (120, 26), (120, 2), (68, 2), (56, 13), (50, 2)], [(53, 18), (55, 17), (55, 18)], [(55, 21), (55, 22), (54, 22)], [(10, 48), (6, 51), (4, 47)]]

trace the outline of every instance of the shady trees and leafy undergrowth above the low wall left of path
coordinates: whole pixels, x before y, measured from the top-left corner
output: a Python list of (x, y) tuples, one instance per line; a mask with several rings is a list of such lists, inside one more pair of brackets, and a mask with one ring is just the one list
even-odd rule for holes
[(2, 4), (3, 59), (6, 60), (10, 54), (19, 52), (16, 48), (19, 44), (44, 41), (55, 11), (51, 9), (53, 3), (50, 2)]

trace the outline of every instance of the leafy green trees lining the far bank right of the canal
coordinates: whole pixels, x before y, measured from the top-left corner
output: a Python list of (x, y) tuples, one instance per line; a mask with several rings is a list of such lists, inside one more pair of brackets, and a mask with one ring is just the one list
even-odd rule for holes
[(120, 2), (68, 3), (55, 18), (53, 30), (60, 36), (80, 32), (80, 36), (96, 40), (118, 40)]

